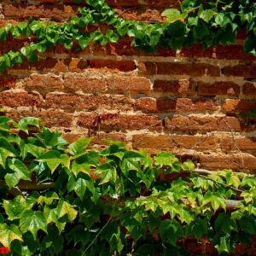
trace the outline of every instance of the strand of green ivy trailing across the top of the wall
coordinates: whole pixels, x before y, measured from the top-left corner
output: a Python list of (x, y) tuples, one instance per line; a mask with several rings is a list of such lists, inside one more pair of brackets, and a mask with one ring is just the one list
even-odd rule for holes
[[(87, 5), (79, 9), (79, 15), (73, 16), (65, 24), (30, 19), (17, 26), (8, 24), (0, 27), (0, 41), (10, 37), (32, 37), (35, 41), (19, 51), (11, 50), (0, 56), (0, 71), (26, 59), (38, 61), (38, 55), (56, 44), (78, 51), (94, 43), (118, 43), (119, 38), (128, 36), (135, 47), (151, 52), (155, 52), (158, 47), (181, 49), (193, 44), (202, 44), (208, 48), (234, 43), (237, 32), (243, 28), (247, 32), (244, 49), (247, 54), (256, 55), (254, 0), (183, 0), (180, 10), (166, 9), (163, 12), (166, 22), (152, 24), (120, 18), (105, 0), (85, 2)], [(106, 33), (100, 29), (84, 32), (85, 27), (96, 24), (107, 24), (109, 29)]]

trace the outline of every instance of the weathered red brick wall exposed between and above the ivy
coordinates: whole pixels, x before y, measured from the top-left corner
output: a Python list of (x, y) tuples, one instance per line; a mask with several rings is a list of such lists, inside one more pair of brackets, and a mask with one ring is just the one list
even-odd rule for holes
[[(175, 0), (108, 3), (125, 19), (137, 20), (161, 20), (163, 9), (178, 5)], [(30, 16), (63, 22), (77, 9), (72, 0), (1, 1), (0, 26)], [(14, 119), (40, 117), (69, 141), (90, 135), (104, 147), (102, 138), (108, 137), (150, 153), (192, 158), (208, 169), (255, 172), (255, 119), (239, 114), (256, 107), (256, 58), (243, 53), (243, 34), (230, 46), (160, 49), (157, 55), (132, 48), (129, 38), (83, 52), (58, 45), (37, 63), (0, 75), (0, 106)], [(0, 54), (31, 40), (1, 42)]]

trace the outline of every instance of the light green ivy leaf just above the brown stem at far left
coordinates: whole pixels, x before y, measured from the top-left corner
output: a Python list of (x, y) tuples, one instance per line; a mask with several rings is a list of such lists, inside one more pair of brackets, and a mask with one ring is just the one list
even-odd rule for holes
[(9, 169), (12, 173), (7, 173), (5, 175), (5, 182), (8, 184), (9, 189), (15, 187), (16, 184), (20, 182), (20, 179), (31, 180), (31, 173), (27, 167), (18, 159), (8, 160)]

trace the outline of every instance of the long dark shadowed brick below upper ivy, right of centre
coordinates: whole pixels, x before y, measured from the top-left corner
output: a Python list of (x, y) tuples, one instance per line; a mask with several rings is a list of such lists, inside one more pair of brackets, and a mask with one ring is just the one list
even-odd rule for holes
[(220, 76), (220, 68), (205, 63), (180, 63), (180, 62), (141, 62), (140, 72), (147, 75), (186, 75), (193, 77)]

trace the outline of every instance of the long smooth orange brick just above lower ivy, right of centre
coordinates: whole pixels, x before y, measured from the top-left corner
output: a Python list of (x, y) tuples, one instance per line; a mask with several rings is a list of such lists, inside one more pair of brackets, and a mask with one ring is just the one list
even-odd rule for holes
[(133, 148), (156, 149), (157, 151), (183, 151), (184, 149), (209, 150), (218, 148), (218, 140), (214, 137), (188, 135), (143, 135), (137, 134), (132, 138)]

